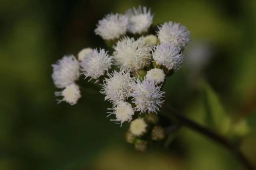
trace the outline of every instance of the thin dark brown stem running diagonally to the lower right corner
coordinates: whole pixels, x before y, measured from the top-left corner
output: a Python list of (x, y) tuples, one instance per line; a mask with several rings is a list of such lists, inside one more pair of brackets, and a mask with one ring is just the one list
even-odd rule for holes
[(203, 126), (199, 125), (198, 123), (176, 113), (175, 111), (173, 111), (173, 109), (170, 109), (170, 107), (168, 107), (167, 110), (168, 110), (168, 112), (171, 112), (171, 115), (164, 114), (166, 117), (168, 117), (170, 119), (175, 117), (182, 125), (190, 128), (190, 129), (208, 137), (209, 139), (215, 141), (216, 143), (219, 143), (220, 145), (226, 147), (226, 149), (228, 149), (230, 152), (232, 152), (238, 158), (238, 160), (244, 165), (244, 167), (247, 170), (254, 170), (254, 168), (252, 167), (252, 164), (250, 164), (250, 162), (247, 160), (246, 156), (244, 156), (244, 154), (239, 149), (237, 149), (234, 145), (232, 145), (232, 143), (230, 143), (227, 139), (225, 139), (221, 135), (218, 135), (217, 133), (212, 132), (207, 127), (203, 127)]

